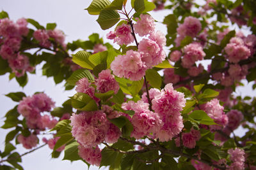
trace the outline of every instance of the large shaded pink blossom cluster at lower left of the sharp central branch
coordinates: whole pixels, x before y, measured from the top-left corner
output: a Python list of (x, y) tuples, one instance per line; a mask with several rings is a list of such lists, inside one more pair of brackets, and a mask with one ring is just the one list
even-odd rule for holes
[(111, 125), (103, 111), (83, 111), (70, 117), (72, 136), (85, 148), (99, 145), (103, 141), (115, 143), (120, 137), (120, 130)]

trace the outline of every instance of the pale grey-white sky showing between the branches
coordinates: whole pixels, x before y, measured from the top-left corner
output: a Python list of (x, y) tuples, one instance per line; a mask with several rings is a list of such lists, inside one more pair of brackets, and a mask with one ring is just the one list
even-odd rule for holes
[[(128, 1), (129, 2), (129, 1)], [(88, 39), (88, 36), (93, 32), (100, 34), (106, 40), (106, 33), (111, 31), (102, 31), (99, 24), (97, 24), (97, 16), (89, 15), (84, 8), (87, 8), (91, 3), (91, 0), (1, 0), (0, 10), (7, 11), (9, 17), (16, 21), (18, 18), (33, 18), (38, 21), (41, 25), (47, 23), (56, 22), (57, 28), (65, 32), (66, 43), (74, 41), (76, 39)], [(163, 16), (168, 15), (169, 11), (159, 11), (150, 13), (155, 20), (159, 22), (163, 21)], [(163, 24), (157, 24), (157, 30), (166, 32), (166, 27)], [(110, 41), (111, 42), (111, 41)], [(112, 43), (112, 42), (111, 42)], [(4, 94), (10, 92), (24, 92), (27, 96), (31, 96), (35, 92), (45, 92), (53, 101), (56, 102), (56, 106), (61, 106), (63, 101), (66, 101), (68, 96), (73, 96), (76, 92), (74, 90), (65, 91), (63, 85), (65, 82), (58, 85), (54, 84), (52, 78), (46, 78), (42, 76), (40, 70), (42, 64), (36, 67), (36, 75), (28, 74), (29, 82), (23, 89), (19, 87), (19, 84), (15, 80), (9, 81), (8, 74), (0, 76), (0, 126), (3, 125), (5, 113), (12, 109), (17, 103), (13, 102)], [(255, 91), (250, 90), (250, 85), (247, 89), (241, 88), (237, 90), (237, 95), (243, 94), (245, 96), (255, 96)], [(8, 131), (0, 129), (0, 149), (4, 148), (4, 138)], [(240, 133), (240, 132), (239, 132)], [(28, 150), (17, 146), (19, 153), (27, 152)], [(51, 150), (48, 146), (37, 150), (36, 152), (30, 153), (22, 157), (22, 166), (25, 170), (68, 170), (68, 169), (87, 169), (86, 164), (81, 161), (70, 163), (70, 161), (59, 159), (51, 159)], [(90, 169), (97, 169), (97, 167), (90, 167)]]

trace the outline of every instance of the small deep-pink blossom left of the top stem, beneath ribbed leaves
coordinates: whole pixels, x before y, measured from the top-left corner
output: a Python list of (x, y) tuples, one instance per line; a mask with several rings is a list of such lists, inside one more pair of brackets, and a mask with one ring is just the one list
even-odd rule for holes
[(118, 25), (115, 29), (116, 42), (118, 45), (128, 45), (134, 41), (134, 38), (131, 34), (131, 28), (127, 24)]

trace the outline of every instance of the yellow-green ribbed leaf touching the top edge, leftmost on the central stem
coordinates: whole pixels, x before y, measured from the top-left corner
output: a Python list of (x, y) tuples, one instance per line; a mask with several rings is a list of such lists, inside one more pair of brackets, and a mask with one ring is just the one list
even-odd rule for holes
[(110, 4), (108, 0), (93, 0), (90, 6), (84, 10), (87, 10), (90, 15), (99, 15), (106, 6)]

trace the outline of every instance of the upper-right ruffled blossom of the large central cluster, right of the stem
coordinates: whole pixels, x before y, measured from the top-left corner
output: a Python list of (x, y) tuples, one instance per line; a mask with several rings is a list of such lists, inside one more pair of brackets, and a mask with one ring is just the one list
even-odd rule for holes
[[(184, 94), (173, 89), (172, 83), (165, 85), (161, 94), (152, 100), (152, 109), (163, 115), (175, 115), (186, 105)], [(180, 113), (179, 113), (180, 114)]]

